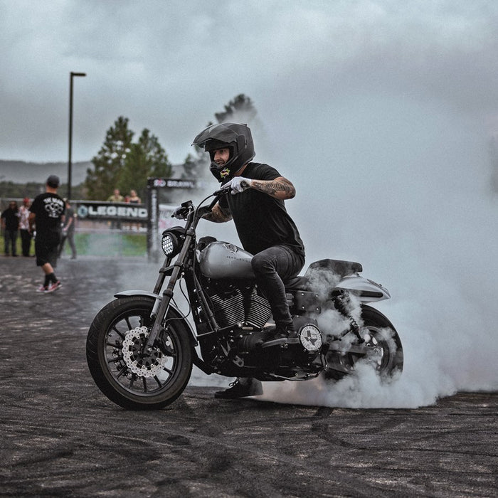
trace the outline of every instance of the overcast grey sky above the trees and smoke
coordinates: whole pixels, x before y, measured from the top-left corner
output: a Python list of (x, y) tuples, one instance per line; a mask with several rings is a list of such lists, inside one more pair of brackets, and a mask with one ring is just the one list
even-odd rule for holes
[[(75, 161), (124, 115), (180, 162), (239, 93), (270, 138), (292, 131), (290, 142), (344, 116), (351, 132), (361, 110), (390, 103), (490, 134), (497, 30), (495, 0), (0, 0), (0, 159), (67, 160), (70, 71), (87, 73), (74, 80)], [(325, 152), (334, 137), (323, 139)]]

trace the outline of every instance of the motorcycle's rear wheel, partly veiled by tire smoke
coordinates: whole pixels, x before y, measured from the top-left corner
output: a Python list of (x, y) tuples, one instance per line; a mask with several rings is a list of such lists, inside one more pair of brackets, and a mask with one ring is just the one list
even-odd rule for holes
[(365, 340), (362, 346), (365, 346), (367, 354), (329, 352), (327, 378), (343, 378), (354, 371), (355, 364), (360, 360), (371, 364), (384, 380), (403, 371), (403, 346), (393, 324), (381, 312), (366, 305), (361, 307), (361, 318), (364, 325), (360, 334)]

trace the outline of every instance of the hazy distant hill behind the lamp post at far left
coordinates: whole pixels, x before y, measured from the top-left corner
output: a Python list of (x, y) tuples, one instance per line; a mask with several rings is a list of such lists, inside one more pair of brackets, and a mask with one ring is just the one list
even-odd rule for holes
[[(82, 184), (87, 176), (87, 169), (92, 167), (90, 161), (73, 162), (71, 167), (71, 184)], [(62, 184), (68, 183), (67, 162), (25, 162), (4, 161), (0, 159), (0, 181), (14, 184), (26, 184), (28, 181), (44, 184), (48, 175), (56, 174)]]

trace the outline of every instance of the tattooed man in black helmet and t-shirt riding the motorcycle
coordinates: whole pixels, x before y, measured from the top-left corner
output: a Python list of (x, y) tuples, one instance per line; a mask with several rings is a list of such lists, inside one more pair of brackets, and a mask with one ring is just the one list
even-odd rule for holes
[[(243, 248), (253, 254), (258, 288), (270, 303), (275, 331), (273, 344), (292, 334), (292, 317), (283, 281), (295, 277), (304, 265), (304, 245), (284, 201), (295, 196), (292, 183), (275, 168), (252, 162), (253, 137), (246, 124), (212, 124), (193, 145), (211, 157), (211, 173), (222, 188), (231, 189), (204, 218), (216, 223), (233, 219)], [(255, 379), (239, 378), (216, 398), (242, 398), (263, 393)]]

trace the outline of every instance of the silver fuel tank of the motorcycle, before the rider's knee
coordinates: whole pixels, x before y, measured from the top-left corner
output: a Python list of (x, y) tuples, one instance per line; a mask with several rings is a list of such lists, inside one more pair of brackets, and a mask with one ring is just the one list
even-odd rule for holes
[(253, 279), (253, 255), (228, 242), (207, 245), (198, 256), (201, 272), (208, 278)]

